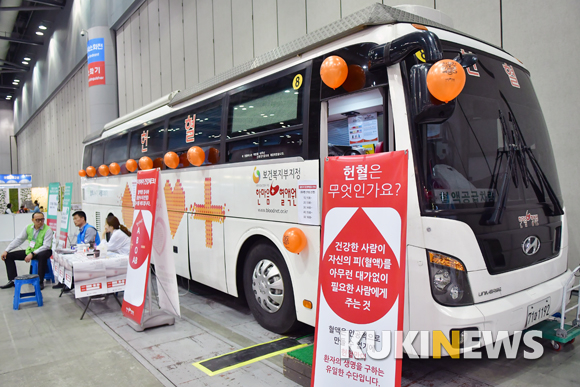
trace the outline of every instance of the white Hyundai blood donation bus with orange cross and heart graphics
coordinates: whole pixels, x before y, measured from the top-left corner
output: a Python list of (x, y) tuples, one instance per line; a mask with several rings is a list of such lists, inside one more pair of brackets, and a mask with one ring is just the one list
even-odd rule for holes
[[(81, 179), (89, 222), (102, 230), (112, 212), (131, 226), (136, 173), (125, 163), (151, 158), (178, 276), (245, 296), (262, 326), (287, 332), (315, 324), (325, 158), (408, 149), (405, 330), (513, 332), (558, 311), (571, 275), (566, 214), (529, 72), (497, 47), (389, 7), (353, 16), (89, 139), (83, 168), (121, 166)], [(320, 78), (332, 55), (359, 74), (334, 90)], [(441, 58), (466, 71), (449, 103), (426, 86)], [(201, 166), (187, 161), (192, 146), (205, 152)], [(163, 164), (168, 151), (178, 168)], [(307, 237), (299, 254), (284, 248), (292, 227)]]

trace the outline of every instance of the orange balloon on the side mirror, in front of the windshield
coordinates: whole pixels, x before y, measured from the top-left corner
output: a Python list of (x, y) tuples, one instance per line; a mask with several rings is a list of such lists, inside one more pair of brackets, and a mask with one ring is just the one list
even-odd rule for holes
[(442, 59), (427, 73), (427, 88), (431, 95), (445, 103), (461, 93), (465, 86), (465, 70), (452, 59)]

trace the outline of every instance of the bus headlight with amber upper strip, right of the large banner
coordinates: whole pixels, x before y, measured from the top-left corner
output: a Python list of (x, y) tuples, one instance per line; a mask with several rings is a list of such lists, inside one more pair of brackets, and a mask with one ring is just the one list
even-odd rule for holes
[(427, 251), (427, 260), (435, 301), (447, 306), (473, 304), (467, 270), (459, 259)]

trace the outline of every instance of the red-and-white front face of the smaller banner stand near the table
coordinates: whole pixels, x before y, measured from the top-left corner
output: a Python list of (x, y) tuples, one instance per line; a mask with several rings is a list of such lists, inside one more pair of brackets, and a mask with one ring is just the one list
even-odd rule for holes
[(155, 225), (153, 220), (155, 219), (157, 206), (158, 185), (159, 169), (139, 171), (137, 173), (131, 250), (129, 252), (127, 282), (122, 307), (123, 315), (137, 324), (141, 324), (143, 317), (145, 295), (149, 281), (151, 243)]

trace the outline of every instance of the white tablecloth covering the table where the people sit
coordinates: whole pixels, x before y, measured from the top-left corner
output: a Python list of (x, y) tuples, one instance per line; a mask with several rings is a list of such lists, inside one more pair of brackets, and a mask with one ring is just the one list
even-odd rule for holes
[(129, 257), (107, 254), (94, 258), (82, 253), (53, 253), (55, 277), (66, 286), (75, 280), (75, 298), (115, 293), (125, 290)]

